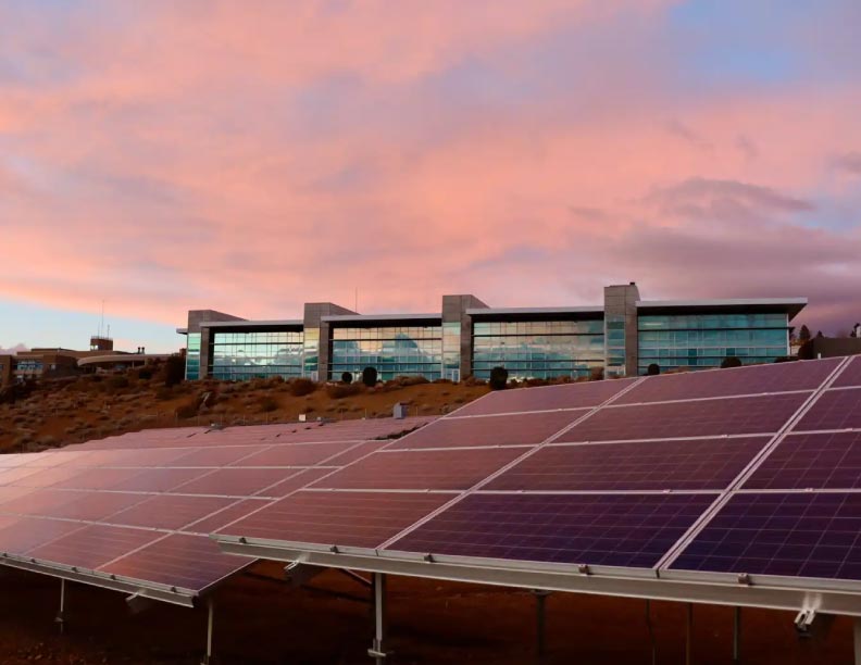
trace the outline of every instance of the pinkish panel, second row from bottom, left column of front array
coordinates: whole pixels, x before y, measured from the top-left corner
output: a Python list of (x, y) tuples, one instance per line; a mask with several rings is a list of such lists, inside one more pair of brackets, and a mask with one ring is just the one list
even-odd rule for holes
[(374, 453), (313, 485), (337, 489), (465, 490), (523, 454), (519, 448)]

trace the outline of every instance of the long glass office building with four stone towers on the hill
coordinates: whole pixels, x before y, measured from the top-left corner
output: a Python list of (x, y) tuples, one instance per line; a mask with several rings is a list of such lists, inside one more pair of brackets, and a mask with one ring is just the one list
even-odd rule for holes
[(789, 354), (803, 298), (645, 301), (635, 284), (604, 288), (603, 305), (501, 308), (471, 294), (444, 296), (432, 314), (357, 314), (334, 303), (305, 304), (303, 319), (245, 321), (213, 310), (189, 312), (186, 378), (245, 380), (304, 376), (380, 379), (581, 378), (706, 369), (728, 356), (774, 362)]

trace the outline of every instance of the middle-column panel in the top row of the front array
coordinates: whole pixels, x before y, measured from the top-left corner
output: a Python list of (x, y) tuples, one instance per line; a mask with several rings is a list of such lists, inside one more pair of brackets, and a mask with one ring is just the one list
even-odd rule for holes
[(778, 365), (750, 365), (692, 374), (649, 377), (615, 400), (616, 404), (732, 397), (760, 392), (814, 390), (843, 359), (799, 361)]

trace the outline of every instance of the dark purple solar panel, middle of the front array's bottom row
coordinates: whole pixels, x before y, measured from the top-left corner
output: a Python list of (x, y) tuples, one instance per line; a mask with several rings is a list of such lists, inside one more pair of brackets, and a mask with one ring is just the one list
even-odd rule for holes
[(716, 494), (475, 493), (389, 550), (651, 567)]

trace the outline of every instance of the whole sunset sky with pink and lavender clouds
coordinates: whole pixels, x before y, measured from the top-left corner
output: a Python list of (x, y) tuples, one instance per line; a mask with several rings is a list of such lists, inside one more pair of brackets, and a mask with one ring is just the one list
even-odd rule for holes
[(189, 309), (861, 319), (857, 0), (0, 0), (0, 348)]

